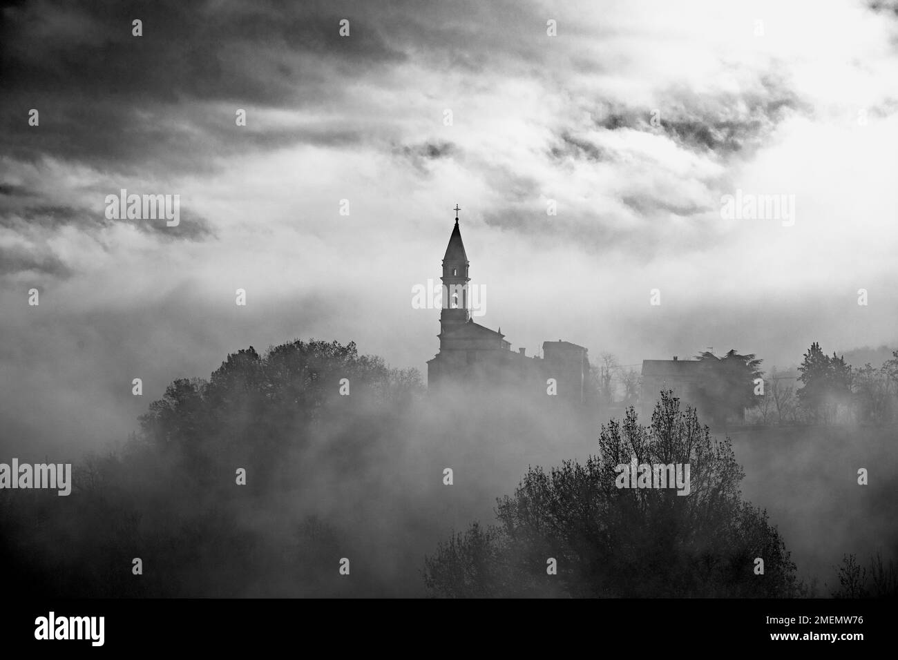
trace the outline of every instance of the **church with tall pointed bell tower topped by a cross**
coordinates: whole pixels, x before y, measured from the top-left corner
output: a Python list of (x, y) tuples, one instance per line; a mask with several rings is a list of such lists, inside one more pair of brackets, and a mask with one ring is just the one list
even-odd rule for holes
[(497, 330), (471, 318), (468, 283), (470, 262), (462, 242), (455, 207), (455, 226), (443, 257), (443, 295), (440, 311), (439, 353), (427, 361), (427, 388), (438, 391), (456, 383), (515, 389), (522, 393), (555, 393), (573, 403), (586, 400), (589, 359), (586, 349), (568, 341), (545, 341), (542, 356), (527, 356), (524, 348), (512, 350), (511, 342)]

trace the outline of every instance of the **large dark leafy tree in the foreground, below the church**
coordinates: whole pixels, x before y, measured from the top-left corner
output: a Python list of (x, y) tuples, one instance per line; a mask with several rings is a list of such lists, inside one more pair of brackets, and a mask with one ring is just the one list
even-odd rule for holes
[[(531, 468), (498, 500), (496, 526), (441, 543), (426, 562), (435, 594), (568, 597), (789, 597), (795, 564), (766, 512), (744, 502), (744, 473), (729, 440), (701, 427), (695, 409), (662, 392), (651, 424), (630, 409), (602, 427), (584, 463)], [(615, 466), (690, 463), (691, 494), (618, 488)], [(764, 573), (754, 572), (756, 558)], [(557, 561), (557, 575), (547, 561)]]

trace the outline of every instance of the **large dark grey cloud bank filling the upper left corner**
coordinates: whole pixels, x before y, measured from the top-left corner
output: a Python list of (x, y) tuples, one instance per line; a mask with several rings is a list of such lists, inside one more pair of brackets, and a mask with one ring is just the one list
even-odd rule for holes
[[(190, 171), (203, 156), (295, 142), (357, 139), (345, 128), (238, 130), (236, 108), (339, 101), (349, 79), (404, 60), (372, 22), (341, 39), (339, 7), (177, 2), (22, 4), (4, 9), (0, 110), (4, 152), (117, 172)], [(131, 22), (143, 22), (143, 36)], [(233, 108), (222, 116), (216, 103)], [(40, 111), (40, 126), (28, 112)], [(230, 129), (230, 130), (228, 130)], [(204, 162), (205, 161), (205, 162)]]

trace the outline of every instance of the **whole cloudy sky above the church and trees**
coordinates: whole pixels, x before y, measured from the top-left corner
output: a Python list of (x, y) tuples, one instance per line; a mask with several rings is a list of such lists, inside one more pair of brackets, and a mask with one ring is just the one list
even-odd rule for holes
[[(455, 204), (477, 320), (515, 349), (770, 367), (898, 341), (894, 2), (3, 13), (0, 438), (20, 454), (120, 439), (249, 345), (354, 340), (426, 374), (438, 312), (411, 290)], [(119, 189), (180, 195), (180, 225), (107, 219)], [(736, 190), (794, 196), (794, 224), (722, 218)]]

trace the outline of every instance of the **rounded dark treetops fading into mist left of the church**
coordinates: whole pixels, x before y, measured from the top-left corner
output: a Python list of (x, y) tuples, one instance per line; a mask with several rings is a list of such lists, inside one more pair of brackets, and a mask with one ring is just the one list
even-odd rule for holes
[(353, 342), (295, 341), (264, 356), (242, 349), (208, 381), (173, 382), (140, 425), (146, 443), (201, 485), (241, 465), (256, 488), (270, 486), (278, 463), (311, 444), (332, 418), (341, 422), (334, 451), (364, 455), (376, 429), (423, 391), (417, 370), (360, 356)]

